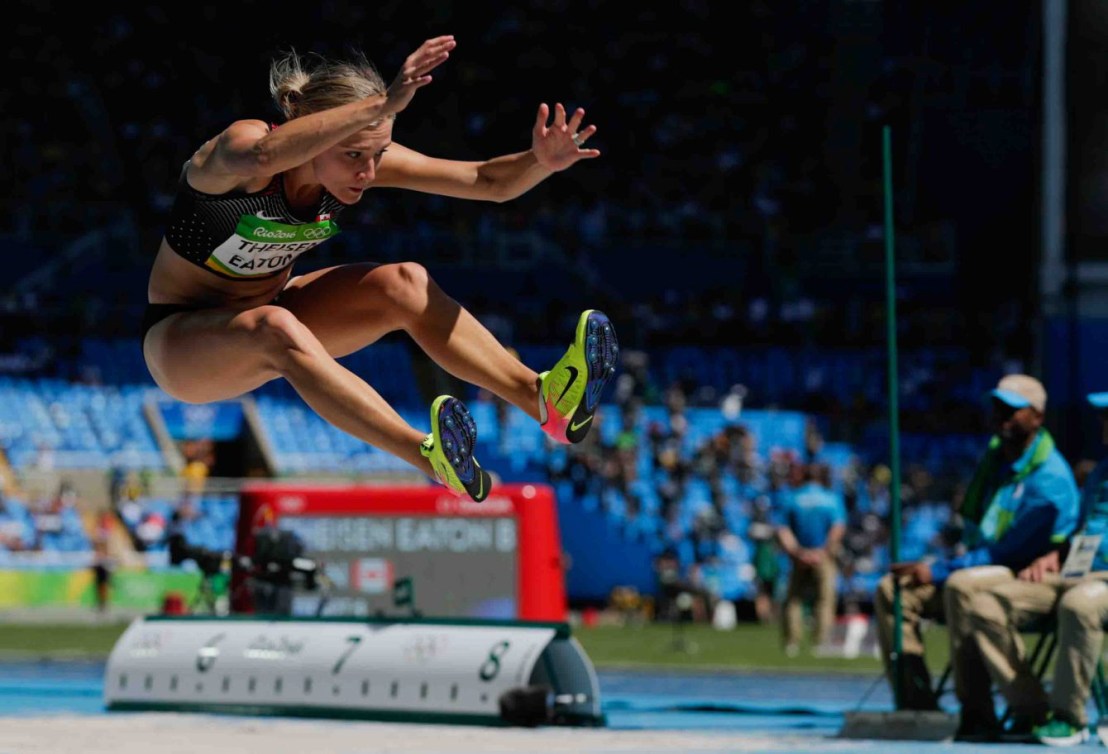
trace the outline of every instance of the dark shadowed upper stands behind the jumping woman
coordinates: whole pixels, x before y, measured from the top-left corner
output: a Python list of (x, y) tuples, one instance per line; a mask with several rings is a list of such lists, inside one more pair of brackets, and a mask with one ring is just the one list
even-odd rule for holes
[[(1070, 86), (1090, 92), (1071, 99), (1070, 154), (1098, 176), (1104, 63), (1084, 61), (1102, 47), (1104, 13), (1069, 4), (1070, 55), (1084, 55)], [(17, 9), (0, 94), (11, 176), (0, 352), (27, 335), (64, 348), (134, 333), (181, 165), (236, 117), (277, 117), (275, 53), (357, 48), (390, 80), (422, 40), (453, 33), (456, 51), (401, 114), (398, 141), (458, 158), (521, 151), (537, 104), (561, 101), (586, 107), (603, 157), (505, 205), (370, 192), (343, 237), (298, 270), (417, 259), (479, 316), (510, 320), (520, 342), (561, 340), (551, 323), (568, 290), (647, 351), (882, 348), (888, 125), (900, 345), (957, 354), (933, 386), (944, 416), (979, 426), (976, 399), (962, 417), (941, 405), (960, 370), (1040, 366), (1038, 2)], [(1070, 180), (1088, 186), (1070, 192), (1070, 228), (1088, 230), (1073, 246), (1096, 257), (1097, 179)], [(505, 266), (490, 233), (532, 233), (555, 252)]]

